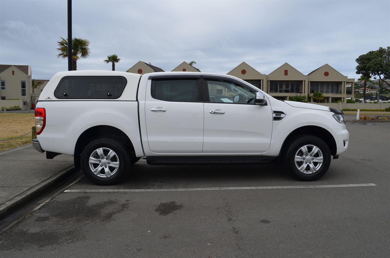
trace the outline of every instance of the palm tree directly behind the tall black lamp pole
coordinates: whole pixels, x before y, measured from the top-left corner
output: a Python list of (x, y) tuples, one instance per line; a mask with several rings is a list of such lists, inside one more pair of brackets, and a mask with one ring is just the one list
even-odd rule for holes
[[(64, 39), (61, 37), (61, 41), (58, 41), (57, 48), (60, 53), (57, 57), (68, 58), (68, 39)], [(89, 40), (81, 39), (81, 38), (73, 38), (72, 39), (72, 70), (77, 70), (77, 60), (80, 58), (89, 57)]]

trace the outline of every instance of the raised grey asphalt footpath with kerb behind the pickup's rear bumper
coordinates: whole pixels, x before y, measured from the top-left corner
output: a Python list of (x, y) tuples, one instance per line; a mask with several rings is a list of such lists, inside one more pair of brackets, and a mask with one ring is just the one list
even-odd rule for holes
[(74, 173), (73, 156), (46, 159), (32, 144), (0, 152), (0, 220)]

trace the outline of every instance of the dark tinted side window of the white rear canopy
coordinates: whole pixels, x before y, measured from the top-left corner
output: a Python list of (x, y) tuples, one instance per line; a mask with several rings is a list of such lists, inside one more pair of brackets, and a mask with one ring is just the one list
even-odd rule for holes
[(54, 95), (58, 99), (117, 99), (125, 86), (122, 76), (67, 76)]

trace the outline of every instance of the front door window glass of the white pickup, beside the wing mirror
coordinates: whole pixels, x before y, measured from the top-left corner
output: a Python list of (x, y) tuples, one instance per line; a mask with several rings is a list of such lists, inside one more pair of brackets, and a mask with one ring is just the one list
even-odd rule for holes
[(207, 79), (210, 102), (253, 104), (255, 91), (235, 81)]

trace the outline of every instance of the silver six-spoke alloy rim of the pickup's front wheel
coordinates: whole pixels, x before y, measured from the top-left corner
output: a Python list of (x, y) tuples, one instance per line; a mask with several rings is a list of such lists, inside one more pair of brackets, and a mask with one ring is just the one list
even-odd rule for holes
[(324, 156), (321, 150), (314, 145), (305, 145), (295, 154), (296, 168), (305, 174), (316, 173), (322, 166)]

